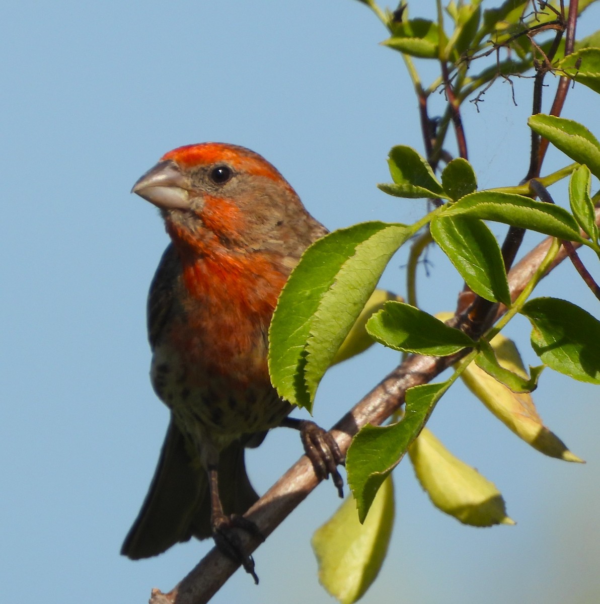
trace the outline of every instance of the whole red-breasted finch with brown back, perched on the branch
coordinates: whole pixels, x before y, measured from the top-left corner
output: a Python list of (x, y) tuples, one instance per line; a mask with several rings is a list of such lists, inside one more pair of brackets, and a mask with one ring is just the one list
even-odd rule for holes
[(244, 448), (266, 431), (300, 429), (321, 478), (341, 493), (340, 451), (327, 432), (288, 418), (267, 370), (277, 297), (300, 255), (326, 234), (282, 175), (244, 147), (179, 147), (134, 185), (160, 208), (172, 243), (150, 286), (150, 376), (169, 407), (158, 467), (121, 553), (155, 556), (191, 536), (213, 536), (257, 582), (235, 528), (257, 500)]

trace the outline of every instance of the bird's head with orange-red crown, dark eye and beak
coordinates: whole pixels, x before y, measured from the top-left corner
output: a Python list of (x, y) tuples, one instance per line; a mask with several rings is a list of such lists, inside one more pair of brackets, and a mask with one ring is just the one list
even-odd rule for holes
[(132, 192), (160, 208), (176, 246), (200, 254), (271, 248), (285, 254), (290, 233), (296, 246), (300, 234), (303, 251), (324, 232), (321, 227), (315, 237), (318, 223), (273, 165), (230, 144), (174, 149)]

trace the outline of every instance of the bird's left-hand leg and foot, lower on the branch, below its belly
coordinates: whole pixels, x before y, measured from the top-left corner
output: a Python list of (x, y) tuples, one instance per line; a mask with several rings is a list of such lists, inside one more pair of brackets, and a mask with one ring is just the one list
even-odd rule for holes
[(211, 507), (211, 526), (213, 530), (213, 539), (215, 545), (226, 556), (238, 562), (244, 567), (247, 573), (252, 575), (254, 583), (258, 585), (259, 578), (254, 571), (254, 558), (250, 554), (245, 553), (242, 545), (242, 540), (237, 535), (235, 529), (241, 528), (247, 533), (260, 538), (261, 541), (265, 537), (260, 532), (254, 522), (240, 516), (239, 514), (231, 514), (228, 516), (223, 511), (221, 498), (219, 497), (219, 474), (217, 466), (208, 466), (208, 486), (210, 488), (210, 507)]

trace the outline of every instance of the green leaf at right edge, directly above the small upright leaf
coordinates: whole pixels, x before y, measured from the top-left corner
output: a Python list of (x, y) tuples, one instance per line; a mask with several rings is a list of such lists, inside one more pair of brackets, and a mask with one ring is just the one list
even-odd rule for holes
[(564, 117), (544, 114), (532, 115), (527, 123), (534, 132), (579, 164), (587, 165), (592, 174), (600, 178), (600, 143), (585, 126)]

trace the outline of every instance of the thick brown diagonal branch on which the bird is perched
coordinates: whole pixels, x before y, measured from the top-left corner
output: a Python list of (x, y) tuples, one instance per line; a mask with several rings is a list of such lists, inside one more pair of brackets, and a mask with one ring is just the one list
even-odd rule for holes
[[(600, 222), (600, 209), (596, 210), (596, 222)], [(546, 256), (550, 243), (552, 237), (548, 237), (532, 249), (509, 272), (512, 300), (523, 291)], [(566, 252), (561, 248), (548, 272), (565, 257)], [(506, 307), (500, 306), (495, 319), (500, 318), (505, 312)], [(464, 319), (457, 317), (457, 321), (461, 320)], [(397, 411), (404, 403), (404, 395), (408, 388), (427, 384), (456, 360), (456, 355), (409, 356), (331, 429), (341, 452), (346, 454), (353, 435), (364, 425), (367, 423), (379, 425)], [(303, 456), (248, 510), (245, 516), (256, 523), (263, 535), (268, 536), (306, 498), (318, 482), (311, 462)], [(260, 545), (259, 541), (245, 532), (240, 532), (239, 536), (248, 552), (256, 550)], [(172, 591), (163, 594), (160, 590), (152, 590), (150, 604), (204, 604), (238, 567), (236, 562), (231, 561), (215, 547)]]

